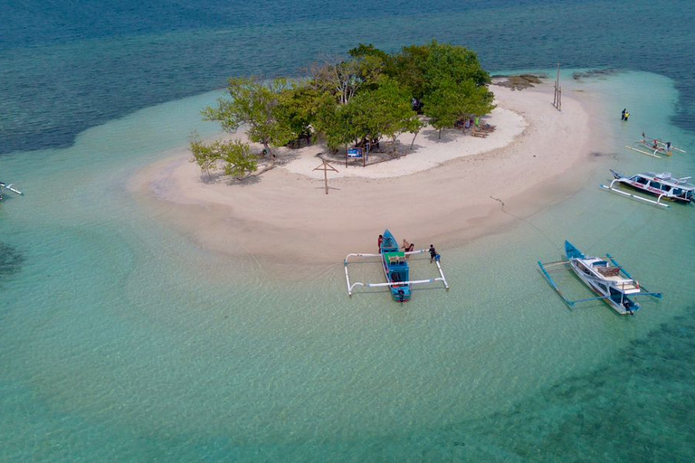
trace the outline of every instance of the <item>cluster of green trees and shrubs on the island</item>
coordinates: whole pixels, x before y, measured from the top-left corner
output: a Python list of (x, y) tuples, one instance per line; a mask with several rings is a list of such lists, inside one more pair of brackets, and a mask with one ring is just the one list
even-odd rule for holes
[[(402, 133), (417, 136), (424, 125), (419, 114), (429, 118), (441, 137), (457, 120), (494, 108), (487, 87), (490, 74), (476, 53), (451, 44), (433, 41), (395, 54), (360, 44), (348, 58), (315, 64), (307, 74), (291, 83), (231, 79), (229, 98), (203, 114), (226, 131), (243, 127), (270, 156), (267, 170), (275, 165), (272, 148), (294, 140), (320, 137), (332, 150), (385, 137), (395, 142)], [(224, 168), (243, 178), (257, 169), (243, 144), (205, 144), (195, 137), (191, 150), (192, 162), (203, 170)]]

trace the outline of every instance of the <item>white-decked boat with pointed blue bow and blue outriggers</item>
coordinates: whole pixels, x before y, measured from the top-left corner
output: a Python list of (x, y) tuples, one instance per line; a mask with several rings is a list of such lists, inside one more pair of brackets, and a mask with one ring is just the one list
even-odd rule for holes
[[(640, 309), (640, 305), (633, 301), (633, 298), (638, 296), (662, 298), (661, 293), (653, 293), (640, 286), (639, 282), (633, 279), (610, 254), (607, 254), (605, 258), (586, 256), (569, 241), (565, 241), (565, 254), (567, 260), (547, 263), (538, 261), (538, 266), (550, 286), (557, 291), (557, 294), (569, 307), (574, 307), (580, 302), (604, 300), (618, 314), (634, 315), (634, 312)], [(558, 267), (574, 270), (576, 276), (598, 294), (598, 297), (577, 300), (566, 298), (550, 276), (550, 272), (557, 270)]]

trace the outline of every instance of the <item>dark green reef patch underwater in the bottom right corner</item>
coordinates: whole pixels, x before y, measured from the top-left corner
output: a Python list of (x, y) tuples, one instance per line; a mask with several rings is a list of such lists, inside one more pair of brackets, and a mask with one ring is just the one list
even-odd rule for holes
[(450, 445), (468, 435), (528, 461), (693, 461), (694, 423), (695, 317), (674, 317), (604, 367), (462, 423)]

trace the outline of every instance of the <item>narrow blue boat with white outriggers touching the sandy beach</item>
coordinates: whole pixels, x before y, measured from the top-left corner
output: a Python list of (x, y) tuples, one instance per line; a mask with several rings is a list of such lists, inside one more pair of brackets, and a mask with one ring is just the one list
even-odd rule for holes
[[(444, 272), (442, 270), (442, 265), (440, 264), (439, 254), (437, 254), (436, 258), (434, 259), (439, 272), (438, 278), (412, 280), (410, 279), (410, 267), (408, 266), (406, 257), (414, 254), (423, 254), (424, 252), (428, 252), (428, 250), (412, 250), (403, 252), (399, 250), (398, 241), (395, 241), (394, 235), (391, 233), (391, 231), (384, 231), (383, 236), (384, 240), (379, 246), (378, 254), (352, 253), (346, 256), (344, 263), (345, 279), (348, 282), (348, 296), (352, 297), (354, 289), (358, 286), (365, 288), (388, 287), (394, 300), (403, 303), (410, 300), (414, 285), (441, 281), (444, 288), (449, 289), (449, 283), (447, 283), (446, 279), (444, 278)], [(355, 283), (350, 282), (350, 275), (348, 273), (350, 259), (376, 257), (381, 259), (384, 275), (386, 277), (386, 283), (365, 283), (362, 281), (357, 281)]]

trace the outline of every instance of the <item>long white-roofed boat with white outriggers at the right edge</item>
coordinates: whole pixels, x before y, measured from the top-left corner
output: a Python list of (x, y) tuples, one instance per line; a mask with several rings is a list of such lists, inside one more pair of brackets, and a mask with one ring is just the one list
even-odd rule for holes
[[(669, 199), (677, 203), (695, 201), (695, 184), (688, 183), (690, 177), (674, 178), (670, 172), (663, 172), (662, 174), (644, 172), (627, 177), (611, 170), (611, 174), (613, 174), (614, 180), (609, 185), (602, 184), (601, 188), (663, 207), (669, 207), (669, 205), (662, 203), (662, 199)], [(629, 194), (616, 188), (615, 184), (624, 184), (640, 192), (658, 196), (658, 198), (654, 201), (636, 194)]]

